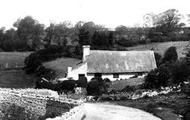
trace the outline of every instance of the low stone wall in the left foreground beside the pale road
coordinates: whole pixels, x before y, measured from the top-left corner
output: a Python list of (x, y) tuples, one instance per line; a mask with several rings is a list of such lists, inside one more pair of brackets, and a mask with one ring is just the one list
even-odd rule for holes
[(11, 104), (15, 104), (24, 108), (25, 111), (30, 111), (32, 115), (37, 116), (36, 118), (45, 116), (42, 117), (44, 119), (48, 118), (49, 115), (56, 115), (65, 116), (66, 118), (75, 116), (74, 118), (76, 119), (68, 120), (77, 120), (82, 115), (80, 110), (82, 108), (80, 106), (81, 102), (67, 98), (48, 98), (44, 96), (24, 95), (18, 92), (0, 91), (0, 103), (2, 103), (0, 104), (0, 112)]

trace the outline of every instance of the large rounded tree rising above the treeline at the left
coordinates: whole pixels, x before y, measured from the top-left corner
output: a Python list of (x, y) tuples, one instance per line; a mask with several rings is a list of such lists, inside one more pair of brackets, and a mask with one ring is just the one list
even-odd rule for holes
[(23, 19), (18, 19), (13, 26), (17, 28), (17, 35), (25, 44), (25, 49), (39, 49), (44, 37), (43, 24), (40, 24), (31, 16), (26, 16)]

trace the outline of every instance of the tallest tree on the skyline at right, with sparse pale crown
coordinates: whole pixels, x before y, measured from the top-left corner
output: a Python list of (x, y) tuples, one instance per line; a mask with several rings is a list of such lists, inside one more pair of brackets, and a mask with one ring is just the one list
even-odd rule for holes
[[(153, 41), (178, 40), (180, 31), (185, 25), (180, 22), (182, 15), (176, 9), (169, 9), (163, 13), (153, 15), (153, 29), (150, 29), (149, 38)], [(156, 35), (156, 37), (154, 37)], [(157, 40), (156, 40), (157, 39)]]

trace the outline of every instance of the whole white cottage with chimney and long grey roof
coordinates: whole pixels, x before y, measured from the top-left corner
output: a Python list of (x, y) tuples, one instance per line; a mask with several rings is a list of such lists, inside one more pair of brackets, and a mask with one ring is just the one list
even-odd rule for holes
[(88, 81), (95, 76), (110, 80), (128, 79), (143, 75), (156, 68), (154, 52), (90, 50), (83, 46), (83, 60), (74, 68), (68, 67), (67, 77), (78, 79), (86, 76)]

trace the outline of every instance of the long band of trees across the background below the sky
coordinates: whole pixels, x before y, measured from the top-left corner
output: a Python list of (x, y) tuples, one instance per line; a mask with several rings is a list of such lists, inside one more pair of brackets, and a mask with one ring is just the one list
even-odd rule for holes
[[(16, 29), (0, 29), (0, 49), (3, 51), (36, 51), (51, 45), (76, 47), (67, 56), (81, 56), (82, 45), (91, 45), (92, 49), (112, 49), (117, 45), (129, 47), (149, 42), (187, 41), (189, 27), (183, 27), (181, 14), (176, 9), (152, 15), (153, 27), (117, 26), (109, 30), (94, 22), (79, 21), (75, 25), (64, 21), (51, 23), (46, 28), (43, 24), (26, 16), (18, 19), (13, 26)], [(78, 47), (79, 46), (79, 47)], [(69, 51), (69, 50), (67, 50)], [(72, 57), (72, 55), (71, 55)]]

